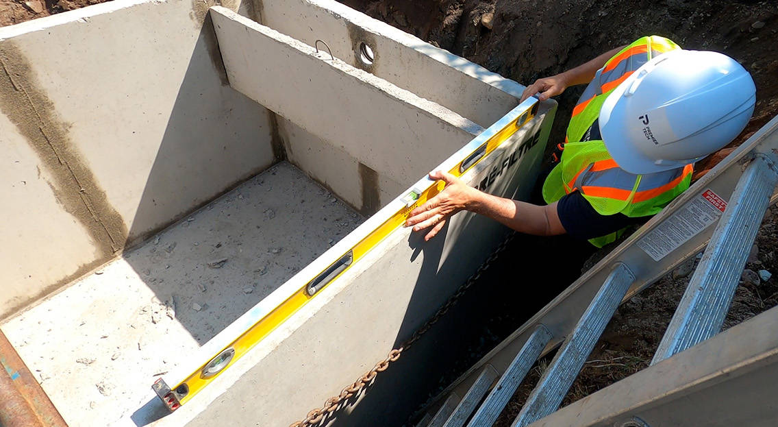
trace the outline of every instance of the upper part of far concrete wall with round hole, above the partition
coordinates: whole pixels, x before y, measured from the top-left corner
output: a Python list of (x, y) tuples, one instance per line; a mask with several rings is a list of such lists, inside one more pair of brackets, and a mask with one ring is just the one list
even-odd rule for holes
[[(457, 112), (484, 128), (518, 104), (524, 86), (335, 0), (254, 0), (260, 23)], [(362, 56), (362, 44), (373, 62)], [(318, 44), (321, 49), (324, 44)]]

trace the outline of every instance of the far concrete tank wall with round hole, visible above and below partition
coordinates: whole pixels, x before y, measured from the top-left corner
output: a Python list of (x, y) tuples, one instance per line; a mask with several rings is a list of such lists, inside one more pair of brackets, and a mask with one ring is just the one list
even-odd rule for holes
[[(331, 50), (335, 58), (440, 104), (482, 127), (492, 125), (515, 107), (524, 90), (524, 86), (513, 80), (339, 2), (262, 0), (251, 5), (254, 11), (251, 16), (259, 23), (317, 47), (324, 55)], [(363, 43), (373, 51), (372, 64), (361, 57)], [(374, 171), (289, 120), (279, 117), (278, 123), (279, 137), (285, 142), (289, 161), (363, 214), (373, 214), (412, 182), (412, 177), (398, 181)], [(338, 168), (324, 164), (337, 164)], [(374, 182), (379, 182), (377, 191)]]

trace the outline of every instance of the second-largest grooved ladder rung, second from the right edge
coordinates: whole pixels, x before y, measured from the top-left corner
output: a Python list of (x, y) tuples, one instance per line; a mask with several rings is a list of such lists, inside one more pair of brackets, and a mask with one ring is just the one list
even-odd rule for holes
[(635, 276), (632, 271), (623, 263), (617, 263), (581, 316), (572, 335), (562, 344), (551, 366), (532, 390), (512, 427), (528, 425), (559, 408), (633, 281)]

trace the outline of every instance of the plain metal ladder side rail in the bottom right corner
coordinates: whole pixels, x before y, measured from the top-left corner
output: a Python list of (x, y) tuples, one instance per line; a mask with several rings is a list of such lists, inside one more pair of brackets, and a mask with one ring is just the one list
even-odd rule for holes
[[(778, 419), (778, 307), (717, 333), (529, 427), (772, 427)], [(715, 357), (711, 357), (715, 355)]]

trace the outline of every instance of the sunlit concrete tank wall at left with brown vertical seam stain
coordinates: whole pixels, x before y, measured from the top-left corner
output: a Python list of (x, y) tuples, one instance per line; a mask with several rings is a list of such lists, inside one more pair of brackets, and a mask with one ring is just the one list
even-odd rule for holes
[(117, 0), (0, 29), (0, 318), (272, 164), (207, 10)]

